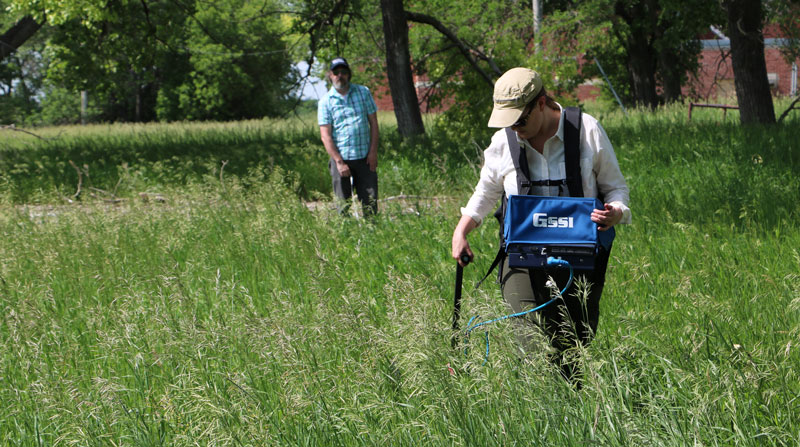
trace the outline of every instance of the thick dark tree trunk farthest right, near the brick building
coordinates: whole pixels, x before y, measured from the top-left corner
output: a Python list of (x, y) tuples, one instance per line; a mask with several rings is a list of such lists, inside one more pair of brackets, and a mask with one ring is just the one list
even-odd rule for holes
[(726, 0), (736, 99), (742, 124), (774, 123), (775, 108), (764, 60), (761, 0)]

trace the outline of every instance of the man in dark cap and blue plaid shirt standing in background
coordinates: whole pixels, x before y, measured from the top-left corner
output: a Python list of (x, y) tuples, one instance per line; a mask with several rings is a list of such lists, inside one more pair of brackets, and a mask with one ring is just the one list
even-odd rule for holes
[(367, 87), (350, 83), (344, 58), (331, 62), (327, 76), (332, 86), (319, 101), (317, 120), (337, 207), (340, 214), (349, 211), (355, 187), (364, 215), (373, 215), (378, 212), (378, 108)]

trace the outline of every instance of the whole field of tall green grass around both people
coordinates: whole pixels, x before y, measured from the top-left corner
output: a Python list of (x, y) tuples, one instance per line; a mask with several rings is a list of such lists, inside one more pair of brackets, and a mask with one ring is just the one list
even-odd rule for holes
[[(0, 134), (0, 444), (800, 444), (797, 118), (603, 116), (634, 221), (580, 391), (508, 321), (486, 365), (482, 334), (450, 348), (490, 133), (382, 123), (381, 196), (407, 199), (373, 221), (303, 203), (330, 197), (313, 120)], [(471, 235), (467, 318), (508, 312), (470, 288), (496, 237)]]

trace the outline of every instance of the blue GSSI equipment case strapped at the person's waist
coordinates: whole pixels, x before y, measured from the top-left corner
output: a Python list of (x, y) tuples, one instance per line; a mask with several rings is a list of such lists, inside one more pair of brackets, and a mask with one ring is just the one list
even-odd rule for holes
[(610, 250), (615, 234), (592, 222), (592, 210), (602, 208), (594, 198), (509, 196), (503, 223), (509, 267), (546, 268), (553, 257), (576, 270), (594, 269), (596, 255)]

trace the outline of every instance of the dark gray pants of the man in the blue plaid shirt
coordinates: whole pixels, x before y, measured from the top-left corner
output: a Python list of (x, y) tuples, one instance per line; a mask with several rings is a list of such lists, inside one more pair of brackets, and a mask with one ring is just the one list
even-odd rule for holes
[[(350, 168), (350, 175), (353, 177), (353, 186), (356, 188), (356, 195), (361, 202), (361, 209), (365, 216), (370, 216), (378, 212), (378, 173), (369, 169), (367, 159), (345, 160)], [(333, 193), (339, 199), (336, 204), (339, 214), (347, 214), (350, 211), (350, 198), (353, 196), (353, 189), (350, 186), (350, 177), (342, 177), (336, 168), (333, 159), (328, 161), (328, 169), (333, 180)]]

